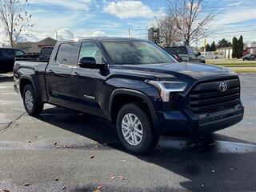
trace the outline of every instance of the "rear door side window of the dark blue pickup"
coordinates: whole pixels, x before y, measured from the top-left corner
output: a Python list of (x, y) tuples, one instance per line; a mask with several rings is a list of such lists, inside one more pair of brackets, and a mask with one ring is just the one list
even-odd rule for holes
[(77, 48), (77, 42), (62, 43), (58, 48), (58, 54), (56, 56), (56, 62), (64, 65), (73, 65), (74, 54)]

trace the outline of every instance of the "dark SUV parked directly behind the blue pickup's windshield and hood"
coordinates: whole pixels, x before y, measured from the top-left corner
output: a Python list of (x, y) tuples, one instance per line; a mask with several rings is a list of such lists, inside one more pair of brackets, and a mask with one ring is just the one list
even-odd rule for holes
[[(187, 62), (188, 58), (189, 62), (206, 63), (206, 59), (193, 46), (167, 46), (165, 50), (170, 54), (177, 55), (181, 62)], [(186, 61), (183, 61), (183, 59)]]

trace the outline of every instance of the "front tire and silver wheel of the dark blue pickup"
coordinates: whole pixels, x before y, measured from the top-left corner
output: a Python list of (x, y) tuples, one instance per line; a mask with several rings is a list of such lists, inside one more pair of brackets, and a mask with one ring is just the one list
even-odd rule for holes
[[(153, 131), (149, 115), (139, 103), (129, 103), (122, 106), (118, 112), (117, 131), (122, 146), (134, 154), (146, 154), (158, 144), (159, 135)], [(138, 121), (136, 121), (138, 118)], [(127, 126), (130, 122), (138, 122), (138, 126)], [(125, 126), (122, 126), (123, 125)], [(135, 123), (134, 123), (135, 124)], [(136, 128), (135, 128), (136, 127)], [(129, 133), (130, 131), (130, 133)], [(125, 138), (125, 135), (130, 135)], [(139, 138), (141, 136), (142, 138)]]

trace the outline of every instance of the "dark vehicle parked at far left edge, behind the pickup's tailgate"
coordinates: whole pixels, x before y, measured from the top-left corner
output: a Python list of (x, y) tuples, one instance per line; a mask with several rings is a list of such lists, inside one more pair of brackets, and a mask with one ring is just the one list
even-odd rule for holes
[(24, 55), (25, 52), (12, 48), (0, 48), (0, 73), (10, 72), (14, 68), (16, 56)]

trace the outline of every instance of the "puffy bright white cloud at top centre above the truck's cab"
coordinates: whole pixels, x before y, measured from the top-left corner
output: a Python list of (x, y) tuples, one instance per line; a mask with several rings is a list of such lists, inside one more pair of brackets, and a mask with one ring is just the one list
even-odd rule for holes
[(103, 11), (118, 18), (150, 18), (154, 16), (150, 7), (141, 1), (109, 2)]

